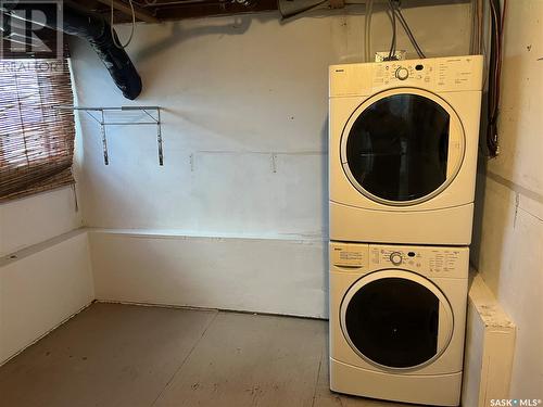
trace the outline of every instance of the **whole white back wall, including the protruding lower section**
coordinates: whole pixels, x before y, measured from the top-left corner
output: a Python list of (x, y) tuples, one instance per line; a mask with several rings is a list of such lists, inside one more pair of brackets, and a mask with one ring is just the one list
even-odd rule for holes
[[(356, 15), (364, 8), (349, 10), (354, 14), (287, 24), (278, 13), (139, 24), (128, 49), (144, 87), (135, 102), (122, 98), (86, 43), (73, 42), (80, 105), (164, 109), (164, 167), (155, 129), (134, 126), (109, 131), (104, 166), (99, 128), (81, 116), (84, 220), (122, 229), (111, 231), (114, 239), (104, 230), (92, 236), (99, 297), (325, 315), (326, 255), (299, 242), (327, 252), (328, 65), (359, 62), (364, 51), (364, 16)], [(468, 53), (469, 12), (469, 3), (458, 2), (407, 9), (405, 16), (428, 55), (458, 55)], [(388, 50), (382, 9), (372, 21), (375, 50)], [(121, 37), (128, 31), (122, 27)], [(403, 31), (399, 48), (412, 50)], [(140, 236), (146, 244), (135, 243)], [(167, 236), (184, 238), (174, 244)], [(203, 244), (194, 236), (222, 239)], [(112, 239), (118, 256), (108, 247)], [(216, 253), (219, 262), (192, 260)], [(247, 262), (262, 257), (257, 275), (242, 253)], [(216, 279), (203, 277), (211, 264)], [(281, 295), (287, 277), (293, 287)], [(216, 295), (219, 281), (229, 282), (228, 298), (180, 285)], [(258, 305), (258, 296), (269, 301)]]

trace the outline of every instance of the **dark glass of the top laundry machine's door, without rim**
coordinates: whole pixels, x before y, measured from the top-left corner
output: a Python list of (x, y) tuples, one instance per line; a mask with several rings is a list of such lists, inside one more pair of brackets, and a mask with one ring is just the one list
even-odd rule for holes
[(424, 198), (446, 181), (449, 129), (449, 113), (431, 99), (387, 96), (364, 109), (351, 127), (348, 168), (378, 199)]

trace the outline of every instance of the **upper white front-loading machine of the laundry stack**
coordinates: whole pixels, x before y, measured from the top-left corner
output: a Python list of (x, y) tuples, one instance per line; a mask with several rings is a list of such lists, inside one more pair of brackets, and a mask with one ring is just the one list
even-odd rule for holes
[(482, 64), (330, 66), (330, 240), (471, 242)]

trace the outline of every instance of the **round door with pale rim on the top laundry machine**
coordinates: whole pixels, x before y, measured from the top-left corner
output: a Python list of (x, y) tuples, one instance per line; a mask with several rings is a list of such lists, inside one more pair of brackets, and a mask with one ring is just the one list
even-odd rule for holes
[(362, 103), (341, 137), (351, 183), (386, 205), (414, 205), (442, 192), (458, 174), (465, 135), (440, 97), (412, 88), (383, 91)]

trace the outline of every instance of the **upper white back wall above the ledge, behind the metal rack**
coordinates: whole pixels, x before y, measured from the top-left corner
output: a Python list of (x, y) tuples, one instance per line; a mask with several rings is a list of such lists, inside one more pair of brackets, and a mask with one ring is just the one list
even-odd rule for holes
[[(406, 17), (430, 55), (463, 54), (469, 8), (408, 9)], [(155, 129), (132, 126), (109, 129), (104, 166), (99, 128), (81, 118), (86, 224), (326, 236), (327, 67), (361, 61), (363, 23), (362, 15), (337, 15), (281, 25), (277, 13), (263, 13), (139, 24), (128, 49), (144, 86), (135, 102), (75, 40), (80, 105), (164, 107), (164, 167)], [(375, 49), (388, 50), (389, 31), (377, 13)], [(121, 36), (127, 33), (123, 26)], [(399, 47), (411, 50), (404, 35)]]

